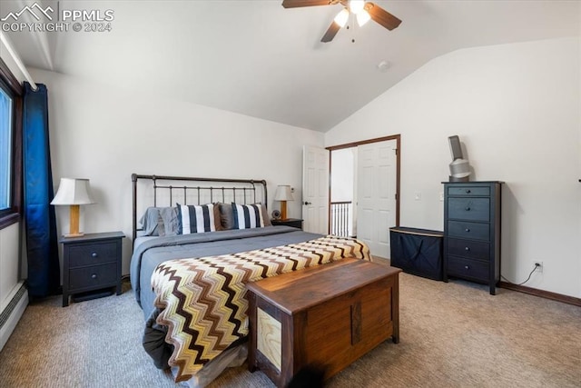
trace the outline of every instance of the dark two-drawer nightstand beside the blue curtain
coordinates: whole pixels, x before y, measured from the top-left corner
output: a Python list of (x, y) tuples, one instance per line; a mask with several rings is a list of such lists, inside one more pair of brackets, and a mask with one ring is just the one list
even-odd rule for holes
[(75, 301), (84, 301), (110, 295), (113, 287), (121, 294), (123, 237), (122, 232), (61, 237), (63, 307), (69, 305), (70, 295), (75, 295)]

